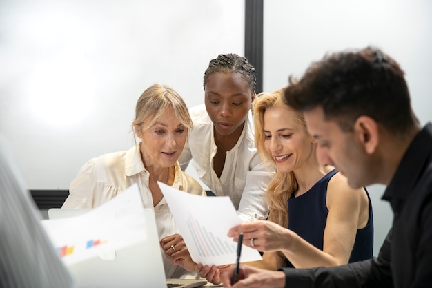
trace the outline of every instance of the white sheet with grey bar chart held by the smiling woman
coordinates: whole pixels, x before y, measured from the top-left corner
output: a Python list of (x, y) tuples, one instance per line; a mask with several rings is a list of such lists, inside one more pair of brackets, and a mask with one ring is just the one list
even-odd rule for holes
[[(173, 213), (190, 256), (204, 265), (226, 265), (235, 262), (237, 243), (226, 236), (228, 230), (241, 224), (228, 197), (202, 197), (179, 191), (158, 182)], [(243, 245), (241, 262), (262, 260), (255, 249)]]

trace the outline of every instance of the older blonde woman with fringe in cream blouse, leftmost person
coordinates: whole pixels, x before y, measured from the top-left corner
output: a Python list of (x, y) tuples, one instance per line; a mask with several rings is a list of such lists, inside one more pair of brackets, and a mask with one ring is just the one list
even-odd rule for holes
[[(141, 141), (128, 151), (104, 154), (84, 164), (70, 184), (63, 208), (98, 207), (137, 183), (144, 207), (155, 209), (159, 238), (178, 233), (157, 181), (187, 193), (206, 195), (177, 162), (192, 127), (188, 108), (175, 90), (159, 84), (150, 86), (139, 97), (132, 122)], [(163, 259), (166, 277), (176, 278), (186, 272), (168, 258)]]

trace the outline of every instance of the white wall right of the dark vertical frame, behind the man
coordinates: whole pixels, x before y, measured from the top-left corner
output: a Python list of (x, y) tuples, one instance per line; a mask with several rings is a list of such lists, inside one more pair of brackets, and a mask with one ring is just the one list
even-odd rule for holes
[[(432, 120), (432, 2), (428, 0), (264, 1), (263, 90), (300, 77), (326, 52), (372, 45), (396, 59), (406, 73), (413, 109)], [(389, 103), (391, 105), (391, 103)], [(377, 255), (393, 213), (381, 200), (384, 186), (368, 187), (373, 202)]]

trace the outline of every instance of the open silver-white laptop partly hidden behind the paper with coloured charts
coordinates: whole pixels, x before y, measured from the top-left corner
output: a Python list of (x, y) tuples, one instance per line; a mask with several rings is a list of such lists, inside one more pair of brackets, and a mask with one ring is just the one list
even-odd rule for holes
[[(90, 211), (92, 209), (52, 208), (48, 210), (50, 220), (43, 221), (79, 217)], [(206, 280), (165, 278), (155, 213), (153, 209), (142, 209), (141, 212), (144, 218), (144, 221), (141, 221), (142, 231), (133, 233), (141, 233), (144, 237), (140, 237), (141, 240), (135, 244), (119, 249), (106, 249), (100, 251), (98, 256), (79, 262), (65, 262), (72, 277), (75, 278), (77, 287), (193, 288), (206, 285)], [(121, 234), (121, 231), (119, 233)], [(116, 231), (112, 231), (113, 236), (116, 234)]]

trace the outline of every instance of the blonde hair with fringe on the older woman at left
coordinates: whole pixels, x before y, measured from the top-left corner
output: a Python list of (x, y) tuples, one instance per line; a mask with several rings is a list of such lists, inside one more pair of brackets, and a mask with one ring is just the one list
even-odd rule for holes
[(150, 128), (168, 108), (173, 109), (177, 119), (186, 128), (193, 127), (188, 107), (180, 95), (169, 86), (153, 84), (141, 94), (137, 101), (132, 128), (134, 131)]

